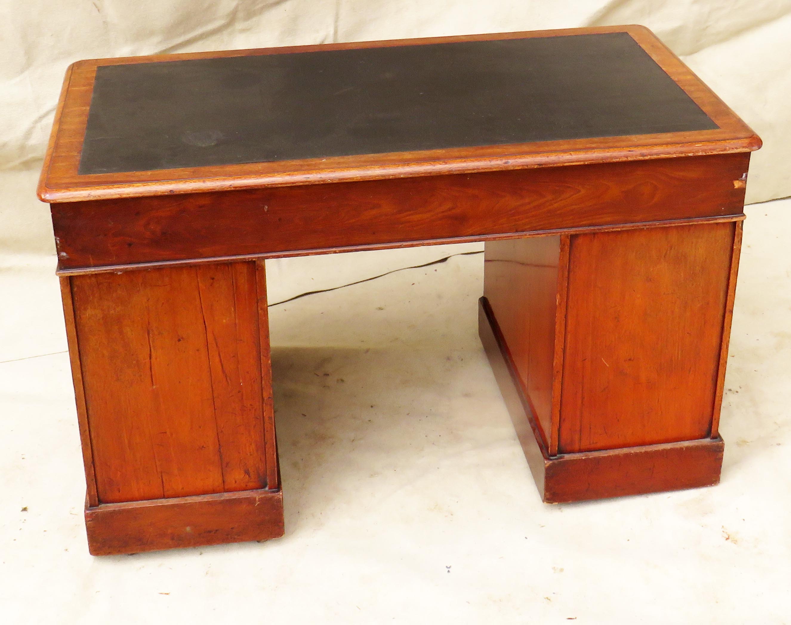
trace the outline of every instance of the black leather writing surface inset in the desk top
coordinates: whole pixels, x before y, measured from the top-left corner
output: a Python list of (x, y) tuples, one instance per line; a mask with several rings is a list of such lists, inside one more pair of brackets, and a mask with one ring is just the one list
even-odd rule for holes
[(626, 32), (97, 68), (80, 174), (713, 130)]

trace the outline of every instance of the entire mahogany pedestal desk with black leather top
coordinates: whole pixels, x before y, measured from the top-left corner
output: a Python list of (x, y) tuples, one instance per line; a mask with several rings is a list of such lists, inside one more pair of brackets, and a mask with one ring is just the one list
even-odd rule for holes
[(543, 501), (717, 483), (759, 146), (641, 26), (74, 63), (39, 196), (91, 553), (282, 535), (281, 256), (485, 241)]

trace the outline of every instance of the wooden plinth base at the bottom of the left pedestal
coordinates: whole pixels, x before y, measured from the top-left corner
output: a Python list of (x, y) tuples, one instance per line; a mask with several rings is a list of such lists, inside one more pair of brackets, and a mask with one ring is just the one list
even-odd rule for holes
[(239, 491), (85, 506), (92, 555), (268, 540), (283, 535), (282, 491)]

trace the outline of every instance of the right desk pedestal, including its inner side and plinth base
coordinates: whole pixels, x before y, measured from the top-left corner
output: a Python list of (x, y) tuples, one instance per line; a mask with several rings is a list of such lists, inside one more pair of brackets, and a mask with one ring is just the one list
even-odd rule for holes
[(544, 502), (715, 484), (741, 222), (486, 243), (480, 335)]

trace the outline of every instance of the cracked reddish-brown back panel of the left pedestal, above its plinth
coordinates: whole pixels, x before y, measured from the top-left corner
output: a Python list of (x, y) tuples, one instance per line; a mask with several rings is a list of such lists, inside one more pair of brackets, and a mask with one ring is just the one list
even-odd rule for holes
[(70, 279), (99, 502), (266, 487), (255, 264)]

